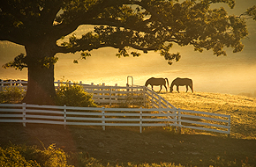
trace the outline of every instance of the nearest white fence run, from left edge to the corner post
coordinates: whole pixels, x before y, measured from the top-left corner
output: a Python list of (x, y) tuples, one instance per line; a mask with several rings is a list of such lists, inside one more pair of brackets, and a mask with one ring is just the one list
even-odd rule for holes
[(173, 109), (98, 108), (55, 105), (0, 104), (0, 122), (80, 125), (105, 127), (164, 127), (177, 126)]

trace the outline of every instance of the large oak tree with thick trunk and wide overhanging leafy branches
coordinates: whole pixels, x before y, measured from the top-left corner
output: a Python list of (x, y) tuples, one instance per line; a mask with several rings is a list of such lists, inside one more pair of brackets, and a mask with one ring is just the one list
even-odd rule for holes
[[(211, 9), (215, 3), (235, 5), (234, 0), (4, 0), (0, 3), (0, 40), (26, 48), (26, 54), (4, 67), (27, 68), (23, 101), (49, 105), (54, 104), (57, 53), (81, 52), (85, 58), (101, 47), (117, 48), (117, 56), (154, 50), (171, 64), (180, 58), (179, 53), (171, 54), (174, 43), (192, 45), (200, 52), (211, 49), (216, 55), (225, 55), (224, 47), (241, 51), (241, 40), (247, 35), (245, 19), (229, 16), (223, 8)], [(253, 16), (254, 11), (245, 14)], [(57, 42), (79, 25), (94, 25), (94, 30)]]

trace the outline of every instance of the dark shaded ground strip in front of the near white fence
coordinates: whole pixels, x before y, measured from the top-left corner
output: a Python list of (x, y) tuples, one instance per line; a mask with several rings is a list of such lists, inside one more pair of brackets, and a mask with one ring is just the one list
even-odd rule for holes
[(171, 134), (162, 127), (66, 127), (56, 125), (0, 124), (0, 147), (10, 143), (56, 143), (65, 152), (87, 152), (102, 163), (181, 163), (204, 166), (217, 159), (255, 163), (256, 141), (204, 134)]

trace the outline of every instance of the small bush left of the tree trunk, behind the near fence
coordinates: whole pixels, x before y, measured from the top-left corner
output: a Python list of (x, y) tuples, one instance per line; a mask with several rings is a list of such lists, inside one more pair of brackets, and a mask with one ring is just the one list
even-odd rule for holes
[(24, 95), (25, 91), (18, 86), (8, 86), (0, 91), (0, 103), (18, 103)]

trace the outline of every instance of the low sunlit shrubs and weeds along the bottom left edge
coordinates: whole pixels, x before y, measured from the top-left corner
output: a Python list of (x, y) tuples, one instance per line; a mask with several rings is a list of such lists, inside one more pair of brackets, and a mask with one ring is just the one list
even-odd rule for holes
[[(69, 162), (67, 162), (67, 158)], [(183, 167), (174, 163), (122, 163), (122, 164), (103, 164), (87, 153), (65, 153), (62, 149), (56, 149), (55, 144), (44, 150), (35, 146), (13, 145), (0, 147), (0, 166), (34, 166), (34, 167)]]

